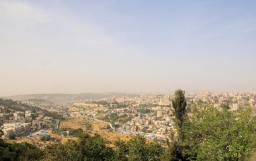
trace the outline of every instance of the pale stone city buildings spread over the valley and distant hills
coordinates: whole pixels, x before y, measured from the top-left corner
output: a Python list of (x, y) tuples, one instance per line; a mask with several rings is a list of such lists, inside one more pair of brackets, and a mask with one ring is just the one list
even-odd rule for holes
[[(11, 134), (24, 136), (37, 129), (57, 127), (58, 119), (48, 117), (50, 111), (58, 111), (64, 118), (89, 117), (98, 121), (110, 123), (111, 129), (118, 133), (136, 135), (140, 133), (146, 138), (163, 140), (170, 131), (176, 131), (174, 117), (171, 111), (171, 98), (173, 95), (118, 95), (118, 97), (105, 97), (102, 99), (86, 99), (76, 102), (71, 107), (61, 109), (59, 105), (40, 99), (23, 100), (20, 103), (38, 109), (19, 111), (0, 105), (0, 117), (3, 137), (9, 138)], [(206, 103), (219, 110), (228, 109), (238, 111), (251, 107), (256, 116), (256, 93), (251, 89), (241, 93), (188, 93), (187, 112), (191, 111), (195, 103)], [(42, 109), (48, 111), (44, 113)], [(56, 115), (54, 115), (56, 117)]]

